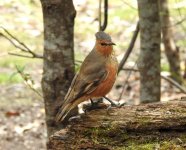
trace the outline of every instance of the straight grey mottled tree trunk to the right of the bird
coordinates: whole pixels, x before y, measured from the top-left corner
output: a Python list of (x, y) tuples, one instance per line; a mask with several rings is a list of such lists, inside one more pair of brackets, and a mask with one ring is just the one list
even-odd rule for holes
[(160, 21), (157, 0), (138, 0), (140, 101), (160, 101)]

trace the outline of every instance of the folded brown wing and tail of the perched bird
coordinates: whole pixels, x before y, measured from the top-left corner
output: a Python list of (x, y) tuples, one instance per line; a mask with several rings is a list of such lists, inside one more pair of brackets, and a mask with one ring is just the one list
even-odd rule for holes
[[(95, 68), (96, 69), (96, 68)], [(96, 72), (93, 68), (88, 72), (77, 74), (56, 115), (56, 121), (62, 121), (71, 109), (78, 105), (80, 98), (93, 92), (106, 79), (108, 72), (104, 69)], [(79, 100), (78, 100), (79, 99)]]

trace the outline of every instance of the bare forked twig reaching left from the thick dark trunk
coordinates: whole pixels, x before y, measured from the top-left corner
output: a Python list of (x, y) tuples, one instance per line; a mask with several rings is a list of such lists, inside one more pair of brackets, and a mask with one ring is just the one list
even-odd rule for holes
[[(3, 36), (5, 39), (7, 39), (14, 47), (20, 49), (21, 51), (25, 52), (25, 53), (29, 53), (31, 54), (31, 56), (26, 56), (26, 55), (21, 55), (21, 54), (15, 54), (15, 53), (9, 53), (10, 55), (15, 55), (15, 56), (21, 56), (21, 57), (27, 57), (27, 58), (40, 58), (42, 59), (43, 56), (34, 53), (30, 48), (28, 48), (28, 46), (26, 46), (23, 42), (21, 42), (20, 40), (18, 40), (15, 36), (13, 36), (7, 29), (5, 29), (4, 27), (0, 27), (3, 29), (3, 31), (10, 36), (13, 40), (15, 40), (19, 45), (17, 45), (11, 38), (9, 38), (8, 36), (4, 35), (3, 33), (0, 32), (0, 35)], [(21, 45), (21, 46), (20, 46)]]

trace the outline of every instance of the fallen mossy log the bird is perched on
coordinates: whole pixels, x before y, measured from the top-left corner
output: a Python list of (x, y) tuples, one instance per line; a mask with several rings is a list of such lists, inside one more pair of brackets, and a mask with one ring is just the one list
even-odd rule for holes
[(50, 150), (186, 149), (186, 101), (93, 110), (50, 137)]

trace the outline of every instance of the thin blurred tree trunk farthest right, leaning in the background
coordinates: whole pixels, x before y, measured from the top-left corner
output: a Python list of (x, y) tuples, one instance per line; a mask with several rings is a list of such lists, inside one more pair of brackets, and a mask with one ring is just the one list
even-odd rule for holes
[(160, 19), (165, 54), (169, 62), (171, 77), (178, 83), (182, 82), (180, 70), (179, 49), (173, 40), (173, 27), (171, 27), (168, 1), (160, 0)]

